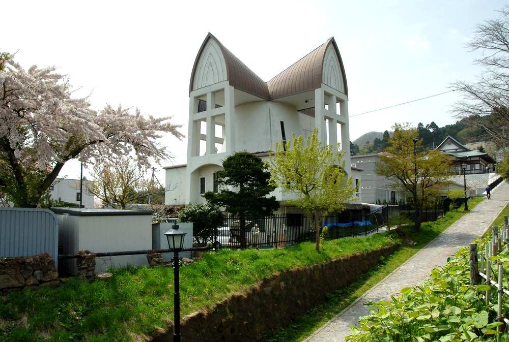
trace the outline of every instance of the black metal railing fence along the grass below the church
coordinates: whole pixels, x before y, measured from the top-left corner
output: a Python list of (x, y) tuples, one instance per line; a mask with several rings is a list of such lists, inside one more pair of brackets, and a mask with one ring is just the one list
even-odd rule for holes
[[(320, 219), (321, 227), (327, 227), (326, 239), (366, 236), (378, 232), (387, 224), (388, 208), (381, 207), (369, 214), (349, 212), (327, 215)], [(216, 230), (213, 244), (233, 248), (275, 248), (316, 241), (313, 225), (305, 214), (245, 215), (244, 227), (241, 226), (242, 220), (238, 216), (224, 216), (221, 226)]]

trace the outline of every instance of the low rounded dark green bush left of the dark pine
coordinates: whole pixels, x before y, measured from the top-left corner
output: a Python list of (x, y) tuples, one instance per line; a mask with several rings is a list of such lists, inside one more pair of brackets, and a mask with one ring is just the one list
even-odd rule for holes
[(192, 242), (197, 247), (204, 247), (212, 240), (221, 219), (221, 211), (209, 203), (191, 203), (179, 211), (180, 222), (193, 223)]

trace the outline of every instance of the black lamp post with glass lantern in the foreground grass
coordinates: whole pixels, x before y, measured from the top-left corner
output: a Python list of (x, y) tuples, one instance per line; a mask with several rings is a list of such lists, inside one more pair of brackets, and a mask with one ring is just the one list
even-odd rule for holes
[(180, 290), (179, 290), (179, 252), (184, 247), (184, 235), (186, 233), (179, 230), (179, 226), (174, 224), (172, 230), (164, 233), (168, 239), (168, 247), (174, 253), (173, 266), (174, 266), (174, 313), (175, 313), (175, 330), (173, 332), (174, 342), (180, 342)]

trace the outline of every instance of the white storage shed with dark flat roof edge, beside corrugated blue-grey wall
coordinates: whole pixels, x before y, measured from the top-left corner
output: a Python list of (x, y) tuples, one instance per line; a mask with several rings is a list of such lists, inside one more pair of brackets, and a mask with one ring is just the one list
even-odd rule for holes
[[(56, 208), (61, 254), (79, 250), (125, 252), (152, 249), (152, 210)], [(147, 265), (145, 254), (96, 258), (96, 273), (109, 267)], [(60, 272), (77, 274), (76, 259), (65, 259)]]

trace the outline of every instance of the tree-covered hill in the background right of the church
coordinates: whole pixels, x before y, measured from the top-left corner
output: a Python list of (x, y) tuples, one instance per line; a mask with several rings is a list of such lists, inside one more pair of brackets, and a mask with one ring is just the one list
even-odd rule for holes
[[(430, 148), (438, 146), (448, 135), (456, 138), (462, 144), (491, 140), (486, 131), (468, 125), (465, 119), (444, 127), (438, 127), (434, 121), (426, 125), (419, 122), (417, 129), (419, 130), (419, 139), (422, 139), (422, 146)], [(352, 156), (383, 151), (390, 135), (392, 132), (389, 131), (363, 134), (350, 143)]]

